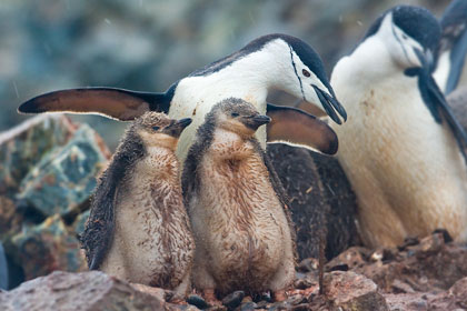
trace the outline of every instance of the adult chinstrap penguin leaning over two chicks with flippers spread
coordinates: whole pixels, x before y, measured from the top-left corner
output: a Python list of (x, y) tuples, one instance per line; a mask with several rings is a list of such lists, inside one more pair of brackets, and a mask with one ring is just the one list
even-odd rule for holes
[[(284, 90), (319, 107), (337, 123), (347, 118), (328, 82), (319, 56), (300, 39), (278, 33), (260, 37), (232, 54), (196, 70), (163, 93), (111, 88), (62, 90), (36, 97), (22, 103), (18, 111), (100, 113), (125, 121), (151, 110), (169, 113), (176, 119), (192, 118), (192, 124), (183, 131), (178, 144), (177, 154), (183, 161), (197, 128), (217, 102), (229, 97), (241, 98), (251, 102), (260, 113), (266, 113), (269, 110), (266, 98), (271, 89)], [(280, 112), (286, 112), (284, 121), (287, 126), (281, 128), (288, 142), (307, 146), (302, 134), (307, 123), (288, 118), (297, 110), (287, 107), (272, 109), (276, 123), (282, 121)], [(285, 138), (272, 133), (268, 137), (270, 141)], [(266, 130), (260, 129), (257, 138), (265, 148)]]

